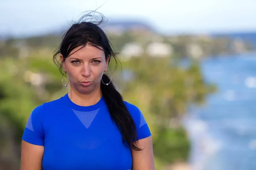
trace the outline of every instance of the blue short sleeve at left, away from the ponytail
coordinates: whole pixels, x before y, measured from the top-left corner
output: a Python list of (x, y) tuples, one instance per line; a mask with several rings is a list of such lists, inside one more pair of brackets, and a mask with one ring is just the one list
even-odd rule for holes
[(36, 107), (29, 115), (22, 140), (44, 146), (43, 105)]

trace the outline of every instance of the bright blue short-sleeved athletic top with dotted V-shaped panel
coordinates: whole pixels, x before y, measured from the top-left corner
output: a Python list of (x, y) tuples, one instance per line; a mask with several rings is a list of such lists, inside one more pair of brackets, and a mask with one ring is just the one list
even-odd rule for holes
[[(143, 114), (125, 102), (137, 128), (137, 140), (151, 136)], [(22, 139), (44, 146), (43, 170), (131, 170), (131, 149), (112, 122), (103, 97), (79, 106), (66, 94), (36, 107)]]

